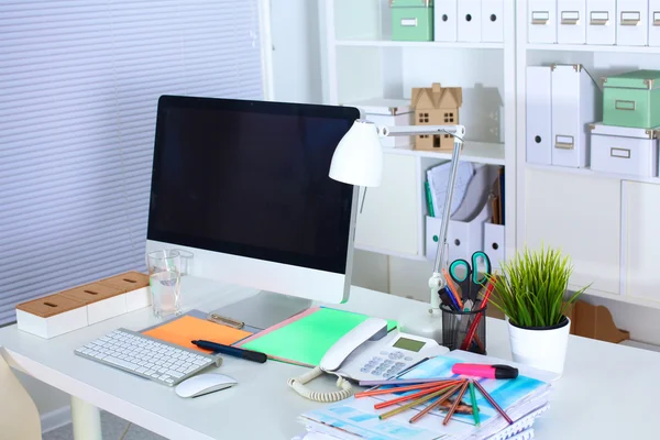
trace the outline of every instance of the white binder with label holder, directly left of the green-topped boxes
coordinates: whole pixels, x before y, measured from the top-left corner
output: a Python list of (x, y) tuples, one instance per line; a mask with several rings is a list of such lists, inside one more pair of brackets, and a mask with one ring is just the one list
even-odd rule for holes
[(603, 94), (580, 64), (552, 66), (552, 165), (588, 164), (588, 124), (600, 121)]

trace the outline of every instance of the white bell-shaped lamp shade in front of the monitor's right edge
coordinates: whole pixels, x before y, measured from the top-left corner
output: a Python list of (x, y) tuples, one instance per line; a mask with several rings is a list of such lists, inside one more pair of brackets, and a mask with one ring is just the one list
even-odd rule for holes
[(359, 119), (341, 139), (332, 155), (330, 178), (358, 186), (380, 186), (383, 147), (376, 125)]

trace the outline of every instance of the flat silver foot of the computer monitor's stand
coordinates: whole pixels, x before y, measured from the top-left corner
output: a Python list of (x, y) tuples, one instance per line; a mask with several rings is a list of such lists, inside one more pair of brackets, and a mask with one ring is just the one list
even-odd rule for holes
[(263, 330), (309, 307), (311, 299), (261, 290), (255, 296), (216, 309), (213, 314), (245, 322), (245, 327)]

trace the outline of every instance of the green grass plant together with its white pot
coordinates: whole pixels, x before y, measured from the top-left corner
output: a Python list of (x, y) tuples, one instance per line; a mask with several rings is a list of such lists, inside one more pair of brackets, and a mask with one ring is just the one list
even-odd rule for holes
[(507, 317), (514, 361), (561, 374), (571, 328), (566, 314), (588, 286), (564, 299), (573, 268), (554, 249), (525, 249), (501, 271), (491, 304)]

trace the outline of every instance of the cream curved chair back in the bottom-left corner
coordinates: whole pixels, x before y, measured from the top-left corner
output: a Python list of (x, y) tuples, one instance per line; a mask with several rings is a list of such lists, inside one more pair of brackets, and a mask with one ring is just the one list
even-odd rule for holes
[(0, 440), (41, 440), (38, 410), (2, 352), (0, 348)]

